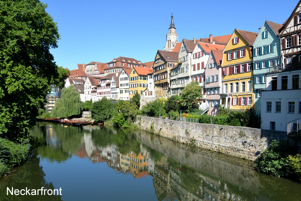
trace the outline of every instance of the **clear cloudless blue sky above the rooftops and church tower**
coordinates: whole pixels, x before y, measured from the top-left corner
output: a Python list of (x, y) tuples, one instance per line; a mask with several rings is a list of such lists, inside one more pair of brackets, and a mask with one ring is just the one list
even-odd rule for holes
[(299, 2), (41, 1), (61, 35), (58, 48), (51, 49), (54, 61), (70, 70), (77, 63), (107, 63), (119, 56), (154, 61), (157, 50), (164, 49), (171, 11), (181, 42), (232, 34), (235, 28), (258, 32), (264, 20), (283, 24)]

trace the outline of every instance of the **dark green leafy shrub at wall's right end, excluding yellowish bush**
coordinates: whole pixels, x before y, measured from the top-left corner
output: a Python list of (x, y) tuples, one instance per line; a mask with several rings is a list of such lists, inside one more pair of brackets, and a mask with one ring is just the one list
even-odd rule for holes
[(259, 158), (255, 161), (255, 166), (262, 172), (273, 174), (277, 177), (288, 176), (290, 171), (289, 155), (292, 148), (284, 140), (273, 140)]

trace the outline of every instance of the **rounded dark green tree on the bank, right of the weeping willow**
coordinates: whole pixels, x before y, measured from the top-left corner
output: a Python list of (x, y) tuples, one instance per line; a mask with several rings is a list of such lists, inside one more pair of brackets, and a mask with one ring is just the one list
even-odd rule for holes
[(114, 113), (115, 103), (111, 99), (103, 97), (102, 100), (93, 103), (90, 109), (92, 118), (98, 122), (104, 122)]

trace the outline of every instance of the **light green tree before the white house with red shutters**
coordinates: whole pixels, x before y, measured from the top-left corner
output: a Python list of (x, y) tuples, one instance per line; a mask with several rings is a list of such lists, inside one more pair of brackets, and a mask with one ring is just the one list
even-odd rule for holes
[(203, 98), (202, 88), (199, 83), (195, 81), (187, 84), (180, 94), (181, 105), (186, 106), (188, 112), (190, 112), (192, 108), (198, 107), (197, 103), (201, 98)]

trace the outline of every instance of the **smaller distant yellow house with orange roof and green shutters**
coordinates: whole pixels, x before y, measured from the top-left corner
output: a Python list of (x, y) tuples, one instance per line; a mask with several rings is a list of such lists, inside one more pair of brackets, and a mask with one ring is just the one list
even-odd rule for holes
[(133, 67), (129, 75), (129, 99), (136, 93), (143, 95), (147, 89), (147, 74), (153, 72), (152, 68)]

